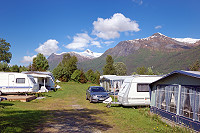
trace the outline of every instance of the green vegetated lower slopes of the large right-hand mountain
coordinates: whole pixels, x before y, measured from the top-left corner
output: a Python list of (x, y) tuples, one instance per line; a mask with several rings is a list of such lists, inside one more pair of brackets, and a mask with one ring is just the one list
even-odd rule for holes
[[(128, 56), (113, 57), (115, 62), (124, 62), (127, 74), (137, 71), (137, 67), (151, 67), (159, 73), (169, 73), (174, 70), (187, 70), (197, 59), (200, 60), (200, 46), (179, 52), (165, 52), (141, 48)], [(84, 71), (98, 70), (102, 73), (105, 65), (105, 56), (78, 64)]]

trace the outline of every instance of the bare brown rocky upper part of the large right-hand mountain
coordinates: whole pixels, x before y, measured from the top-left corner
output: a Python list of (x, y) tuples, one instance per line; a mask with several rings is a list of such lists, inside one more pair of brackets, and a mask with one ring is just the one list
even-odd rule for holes
[(181, 51), (197, 46), (194, 43), (180, 42), (177, 39), (167, 37), (161, 33), (155, 33), (143, 39), (127, 40), (119, 42), (114, 48), (108, 49), (104, 55), (128, 56), (141, 48), (157, 51)]

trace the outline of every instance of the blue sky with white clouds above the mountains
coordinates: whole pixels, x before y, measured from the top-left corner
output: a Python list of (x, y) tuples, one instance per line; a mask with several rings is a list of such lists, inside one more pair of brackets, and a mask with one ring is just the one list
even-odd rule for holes
[(11, 65), (42, 53), (104, 53), (120, 41), (160, 32), (200, 39), (200, 0), (0, 0), (0, 38)]

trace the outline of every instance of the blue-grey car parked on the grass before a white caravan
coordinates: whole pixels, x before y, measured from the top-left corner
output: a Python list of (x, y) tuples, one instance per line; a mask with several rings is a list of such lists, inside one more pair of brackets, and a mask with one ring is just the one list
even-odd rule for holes
[(110, 95), (108, 92), (106, 92), (105, 88), (100, 86), (90, 86), (86, 90), (86, 100), (89, 100), (92, 102), (103, 102), (107, 98), (109, 98)]

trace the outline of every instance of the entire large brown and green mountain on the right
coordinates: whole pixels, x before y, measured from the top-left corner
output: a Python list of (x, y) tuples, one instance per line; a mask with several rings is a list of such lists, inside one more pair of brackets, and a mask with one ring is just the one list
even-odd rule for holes
[(93, 69), (102, 72), (106, 56), (111, 55), (115, 62), (126, 64), (128, 74), (141, 66), (152, 67), (154, 71), (162, 73), (186, 69), (200, 59), (200, 40), (186, 40), (180, 41), (180, 39), (155, 33), (143, 39), (121, 41), (102, 56), (81, 62), (78, 67), (84, 71)]

